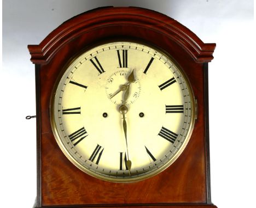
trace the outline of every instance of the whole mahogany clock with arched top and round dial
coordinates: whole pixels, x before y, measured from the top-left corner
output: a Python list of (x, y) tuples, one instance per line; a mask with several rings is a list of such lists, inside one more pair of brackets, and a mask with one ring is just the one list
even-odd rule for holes
[(35, 207), (216, 207), (207, 81), (215, 46), (135, 7), (87, 11), (29, 45)]

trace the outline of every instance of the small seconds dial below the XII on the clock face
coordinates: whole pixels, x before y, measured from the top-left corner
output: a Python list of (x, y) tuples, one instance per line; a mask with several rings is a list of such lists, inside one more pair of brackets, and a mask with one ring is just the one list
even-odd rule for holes
[(136, 77), (136, 70), (119, 70), (107, 79), (105, 86), (108, 99), (116, 105), (124, 102), (127, 106), (134, 103), (141, 93), (141, 84)]

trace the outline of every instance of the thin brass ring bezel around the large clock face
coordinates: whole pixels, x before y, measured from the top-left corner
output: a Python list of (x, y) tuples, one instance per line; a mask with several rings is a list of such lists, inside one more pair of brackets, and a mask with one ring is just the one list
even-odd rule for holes
[[(74, 62), (74, 60), (76, 60), (80, 55), (82, 55), (83, 53), (85, 53), (86, 51), (91, 50), (94, 47), (99, 47), (101, 45), (105, 45), (105, 44), (110, 44), (113, 42), (130, 42), (133, 44), (141, 44), (147, 47), (152, 48), (155, 51), (159, 51), (160, 53), (164, 54), (164, 56), (166, 56), (168, 59), (171, 60), (171, 62), (176, 66), (176, 68), (179, 70), (179, 72), (181, 73), (181, 75), (184, 78), (184, 81), (187, 84), (188, 87), (188, 91), (190, 94), (190, 98), (191, 98), (191, 122), (190, 122), (190, 126), (189, 126), (189, 130), (188, 130), (188, 134), (187, 137), (184, 140), (184, 143), (182, 144), (181, 148), (177, 151), (177, 153), (171, 158), (170, 161), (168, 161), (167, 163), (165, 163), (163, 166), (161, 166), (159, 169), (154, 170), (153, 172), (150, 172), (146, 175), (142, 175), (142, 176), (138, 176), (137, 178), (107, 178), (103, 175), (100, 174), (96, 174), (94, 172), (91, 172), (90, 170), (88, 170), (87, 168), (85, 168), (84, 166), (82, 166), (80, 163), (78, 163), (74, 157), (68, 152), (68, 150), (65, 148), (65, 145), (62, 143), (62, 140), (59, 136), (59, 133), (57, 132), (57, 128), (56, 128), (56, 124), (54, 121), (54, 101), (55, 101), (55, 95), (56, 95), (56, 90), (57, 87), (59, 86), (59, 83), (61, 81), (62, 76), (65, 74), (66, 70), (68, 69), (68, 67)], [(184, 70), (181, 68), (181, 66), (176, 62), (176, 60), (174, 60), (174, 58), (172, 58), (172, 56), (167, 53), (166, 51), (162, 50), (161, 48), (159, 48), (158, 46), (153, 46), (150, 44), (146, 44), (143, 41), (135, 41), (135, 40), (130, 40), (130, 39), (115, 39), (115, 40), (108, 40), (108, 41), (103, 41), (103, 42), (98, 42), (98, 44), (94, 44), (91, 45), (90, 47), (86, 47), (84, 48), (84, 50), (80, 51), (79, 53), (75, 54), (74, 57), (72, 57), (67, 64), (63, 67), (63, 69), (61, 70), (59, 76), (56, 79), (56, 82), (54, 84), (54, 88), (53, 91), (51, 93), (51, 98), (50, 98), (50, 121), (51, 121), (51, 129), (53, 130), (54, 133), (54, 137), (56, 139), (57, 144), (60, 146), (63, 154), (65, 154), (65, 156), (68, 158), (69, 161), (71, 161), (74, 166), (76, 166), (77, 168), (79, 168), (80, 170), (82, 170), (84, 173), (89, 174), (97, 179), (101, 179), (104, 181), (109, 181), (109, 182), (120, 182), (120, 183), (127, 183), (127, 182), (137, 182), (137, 181), (141, 181), (144, 179), (148, 179), (152, 176), (155, 176), (159, 173), (161, 173), (162, 171), (164, 171), (165, 169), (167, 169), (168, 167), (171, 166), (171, 164), (173, 164), (177, 158), (182, 154), (182, 152), (184, 151), (185, 147), (187, 146), (191, 134), (193, 132), (194, 129), (194, 124), (195, 124), (195, 97), (194, 97), (194, 93), (193, 90), (191, 88), (191, 84), (189, 82), (189, 79), (187, 77), (187, 75), (185, 74)]]

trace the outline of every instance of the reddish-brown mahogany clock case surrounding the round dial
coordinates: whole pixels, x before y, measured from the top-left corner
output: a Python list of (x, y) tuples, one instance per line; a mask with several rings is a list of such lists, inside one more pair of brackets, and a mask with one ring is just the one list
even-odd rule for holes
[[(125, 184), (98, 180), (73, 166), (57, 145), (49, 118), (51, 92), (67, 62), (85, 48), (115, 39), (150, 43), (171, 54), (197, 99), (197, 120), (182, 155), (164, 172)], [(34, 207), (216, 207), (211, 203), (208, 134), (208, 62), (215, 47), (170, 17), (135, 7), (87, 11), (64, 22), (39, 45), (28, 45), (36, 64)]]

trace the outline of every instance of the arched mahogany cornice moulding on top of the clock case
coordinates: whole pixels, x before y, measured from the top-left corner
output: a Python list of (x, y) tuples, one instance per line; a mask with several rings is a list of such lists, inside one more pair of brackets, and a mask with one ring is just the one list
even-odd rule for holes
[(63, 22), (39, 45), (28, 45), (31, 62), (46, 64), (69, 41), (92, 30), (112, 26), (120, 26), (120, 30), (127, 26), (154, 30), (177, 42), (198, 63), (213, 59), (216, 44), (203, 43), (191, 30), (166, 15), (136, 7), (107, 7), (77, 15)]

